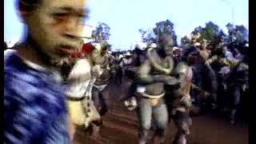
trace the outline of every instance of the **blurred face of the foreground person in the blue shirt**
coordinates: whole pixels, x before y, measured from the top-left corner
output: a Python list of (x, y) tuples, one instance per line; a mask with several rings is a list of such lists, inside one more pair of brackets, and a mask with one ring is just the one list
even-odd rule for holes
[(54, 60), (82, 49), (85, 6), (86, 0), (42, 0), (25, 20), (36, 48)]

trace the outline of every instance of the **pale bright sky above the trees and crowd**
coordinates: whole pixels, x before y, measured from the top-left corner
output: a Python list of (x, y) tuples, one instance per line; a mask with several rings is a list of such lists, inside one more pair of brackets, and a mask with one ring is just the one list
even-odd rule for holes
[[(110, 26), (113, 49), (129, 49), (140, 40), (139, 29), (148, 30), (159, 21), (169, 19), (179, 39), (197, 26), (212, 21), (224, 32), (226, 24), (248, 27), (248, 0), (89, 0), (90, 19), (87, 24)], [(14, 10), (14, 0), (4, 0), (4, 40), (19, 39), (22, 24)]]

